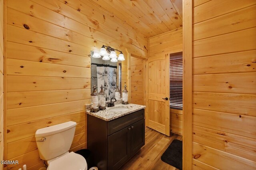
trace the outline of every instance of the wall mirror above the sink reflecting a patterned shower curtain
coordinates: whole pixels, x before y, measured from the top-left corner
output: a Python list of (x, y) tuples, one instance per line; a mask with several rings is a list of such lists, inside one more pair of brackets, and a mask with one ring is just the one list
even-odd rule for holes
[[(94, 51), (91, 51), (91, 56)], [(115, 97), (116, 85), (122, 86), (122, 61), (111, 62), (110, 60), (103, 60), (102, 57), (91, 57), (91, 89), (96, 85), (98, 92), (100, 92), (100, 86), (104, 87), (106, 93), (106, 101), (109, 101), (112, 97)]]

